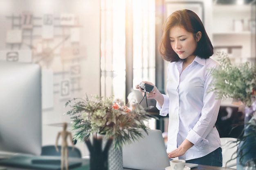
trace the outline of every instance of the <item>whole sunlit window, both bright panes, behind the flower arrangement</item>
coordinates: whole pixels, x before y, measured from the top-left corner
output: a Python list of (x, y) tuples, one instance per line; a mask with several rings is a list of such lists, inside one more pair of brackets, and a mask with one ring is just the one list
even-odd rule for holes
[[(125, 100), (127, 89), (142, 80), (155, 83), (155, 0), (101, 0), (101, 96), (114, 95)], [(126, 20), (126, 13), (132, 19)], [(126, 27), (132, 23), (132, 31)], [(132, 47), (127, 47), (127, 31)], [(132, 56), (126, 50), (132, 49)], [(127, 59), (131, 63), (126, 65)], [(126, 67), (132, 68), (132, 73)], [(126, 76), (132, 77), (128, 87)]]

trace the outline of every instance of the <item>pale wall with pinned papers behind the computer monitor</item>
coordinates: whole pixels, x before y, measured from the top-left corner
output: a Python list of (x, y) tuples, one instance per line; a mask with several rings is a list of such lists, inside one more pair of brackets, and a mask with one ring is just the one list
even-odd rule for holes
[[(23, 20), (25, 11), (32, 22)], [(54, 26), (45, 24), (45, 14)], [(24, 22), (31, 27), (22, 28)], [(66, 101), (100, 94), (100, 0), (0, 0), (0, 24), (0, 60), (38, 63), (43, 70), (42, 144), (52, 145), (62, 123), (70, 122)], [(77, 147), (88, 155), (84, 143)]]

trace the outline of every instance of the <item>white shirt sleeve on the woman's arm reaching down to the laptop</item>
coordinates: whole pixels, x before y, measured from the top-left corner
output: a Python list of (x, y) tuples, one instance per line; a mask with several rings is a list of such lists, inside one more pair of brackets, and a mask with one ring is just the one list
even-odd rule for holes
[(204, 146), (209, 143), (205, 138), (211, 130), (213, 130), (220, 110), (221, 99), (216, 99), (214, 92), (209, 91), (209, 89), (212, 88), (212, 83), (213, 77), (209, 74), (204, 86), (204, 106), (202, 108), (200, 119), (193, 129), (189, 130), (186, 137), (186, 139), (197, 146)]

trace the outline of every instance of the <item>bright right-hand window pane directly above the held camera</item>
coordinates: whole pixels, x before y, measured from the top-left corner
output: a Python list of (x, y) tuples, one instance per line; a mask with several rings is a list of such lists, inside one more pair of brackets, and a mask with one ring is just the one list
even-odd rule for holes
[(133, 87), (155, 83), (155, 2), (133, 1)]

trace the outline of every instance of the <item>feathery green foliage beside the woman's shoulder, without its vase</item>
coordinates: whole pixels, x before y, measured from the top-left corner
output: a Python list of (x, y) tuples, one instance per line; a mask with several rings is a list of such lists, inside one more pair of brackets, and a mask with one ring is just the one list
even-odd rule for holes
[(256, 89), (256, 64), (246, 62), (234, 66), (227, 54), (219, 52), (217, 55), (222, 69), (213, 70), (215, 81), (210, 91), (218, 98), (234, 98), (250, 106), (253, 89)]

